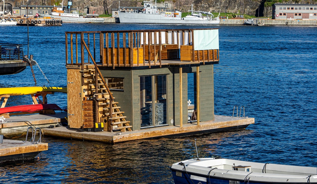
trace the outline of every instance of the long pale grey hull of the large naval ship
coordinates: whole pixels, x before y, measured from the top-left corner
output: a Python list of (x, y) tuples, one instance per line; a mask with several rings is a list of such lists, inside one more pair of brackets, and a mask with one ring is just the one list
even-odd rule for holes
[(161, 14), (118, 12), (120, 23), (136, 24), (219, 24), (220, 20), (184, 20)]

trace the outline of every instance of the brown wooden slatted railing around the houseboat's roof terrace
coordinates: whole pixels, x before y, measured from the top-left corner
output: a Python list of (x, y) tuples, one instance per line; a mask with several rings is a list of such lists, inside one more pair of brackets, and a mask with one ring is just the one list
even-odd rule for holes
[(114, 69), (161, 67), (164, 64), (162, 60), (203, 64), (219, 61), (218, 48), (194, 49), (195, 30), (212, 29), (65, 32), (66, 65), (88, 64), (94, 60), (98, 66)]

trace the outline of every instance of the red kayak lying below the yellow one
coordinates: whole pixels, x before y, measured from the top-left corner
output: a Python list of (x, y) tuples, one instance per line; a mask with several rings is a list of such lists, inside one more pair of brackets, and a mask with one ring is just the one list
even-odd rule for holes
[(58, 110), (62, 109), (56, 104), (32, 104), (32, 105), (17, 105), (11, 107), (0, 108), (0, 114), (9, 112), (36, 112), (42, 110)]

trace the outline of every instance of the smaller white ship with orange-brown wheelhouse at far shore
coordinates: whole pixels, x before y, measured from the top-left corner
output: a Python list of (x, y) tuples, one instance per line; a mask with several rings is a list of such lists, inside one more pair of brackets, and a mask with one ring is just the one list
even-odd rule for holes
[(76, 22), (76, 23), (103, 23), (105, 20), (98, 17), (98, 14), (80, 15), (78, 10), (72, 10), (73, 0), (68, 0), (68, 5), (63, 10), (63, 1), (61, 7), (54, 6), (51, 14), (43, 14), (38, 12), (40, 17), (61, 18), (62, 22)]

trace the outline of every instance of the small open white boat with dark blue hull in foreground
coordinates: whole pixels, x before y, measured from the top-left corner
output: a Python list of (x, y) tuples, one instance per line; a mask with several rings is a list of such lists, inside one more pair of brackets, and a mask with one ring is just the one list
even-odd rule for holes
[(317, 184), (317, 168), (200, 158), (171, 166), (175, 184)]

